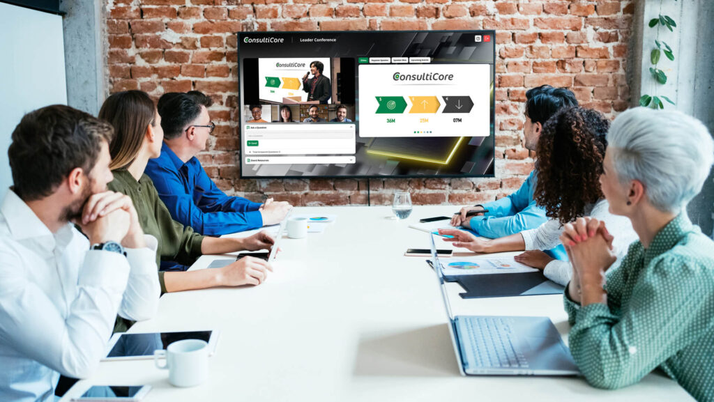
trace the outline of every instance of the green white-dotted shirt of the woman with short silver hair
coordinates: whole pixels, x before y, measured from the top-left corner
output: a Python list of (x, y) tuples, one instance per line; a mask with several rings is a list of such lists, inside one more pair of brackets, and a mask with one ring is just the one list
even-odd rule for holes
[(581, 307), (565, 293), (570, 353), (588, 382), (620, 388), (660, 368), (698, 401), (714, 401), (714, 241), (686, 212), (649, 248), (632, 243), (605, 291), (607, 306)]

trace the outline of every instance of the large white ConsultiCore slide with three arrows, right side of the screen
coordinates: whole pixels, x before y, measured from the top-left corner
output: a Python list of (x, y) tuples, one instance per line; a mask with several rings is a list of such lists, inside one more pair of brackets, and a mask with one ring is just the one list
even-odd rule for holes
[(491, 135), (488, 64), (361, 64), (361, 137)]

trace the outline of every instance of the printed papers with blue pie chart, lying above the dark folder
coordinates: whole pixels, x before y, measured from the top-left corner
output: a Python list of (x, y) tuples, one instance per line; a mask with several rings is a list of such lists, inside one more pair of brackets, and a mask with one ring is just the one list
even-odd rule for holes
[(516, 262), (513, 257), (471, 256), (439, 258), (444, 276), (485, 275), (489, 273), (536, 272), (538, 269)]

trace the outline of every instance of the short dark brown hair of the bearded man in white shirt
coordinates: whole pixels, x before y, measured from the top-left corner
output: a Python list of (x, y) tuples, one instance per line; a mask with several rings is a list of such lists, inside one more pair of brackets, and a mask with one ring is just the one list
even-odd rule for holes
[(7, 151), (13, 191), (34, 201), (50, 196), (76, 168), (89, 175), (101, 143), (112, 136), (111, 125), (69, 106), (31, 111), (15, 127)]

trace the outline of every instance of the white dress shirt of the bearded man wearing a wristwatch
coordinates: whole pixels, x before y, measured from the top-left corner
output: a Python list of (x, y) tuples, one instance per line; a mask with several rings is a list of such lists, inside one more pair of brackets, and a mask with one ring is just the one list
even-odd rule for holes
[[(0, 206), (0, 401), (54, 401), (60, 374), (89, 376), (117, 313), (139, 321), (159, 305), (156, 238), (127, 256), (89, 250), (67, 223), (56, 233), (14, 191)], [(151, 247), (153, 246), (153, 248)]]

